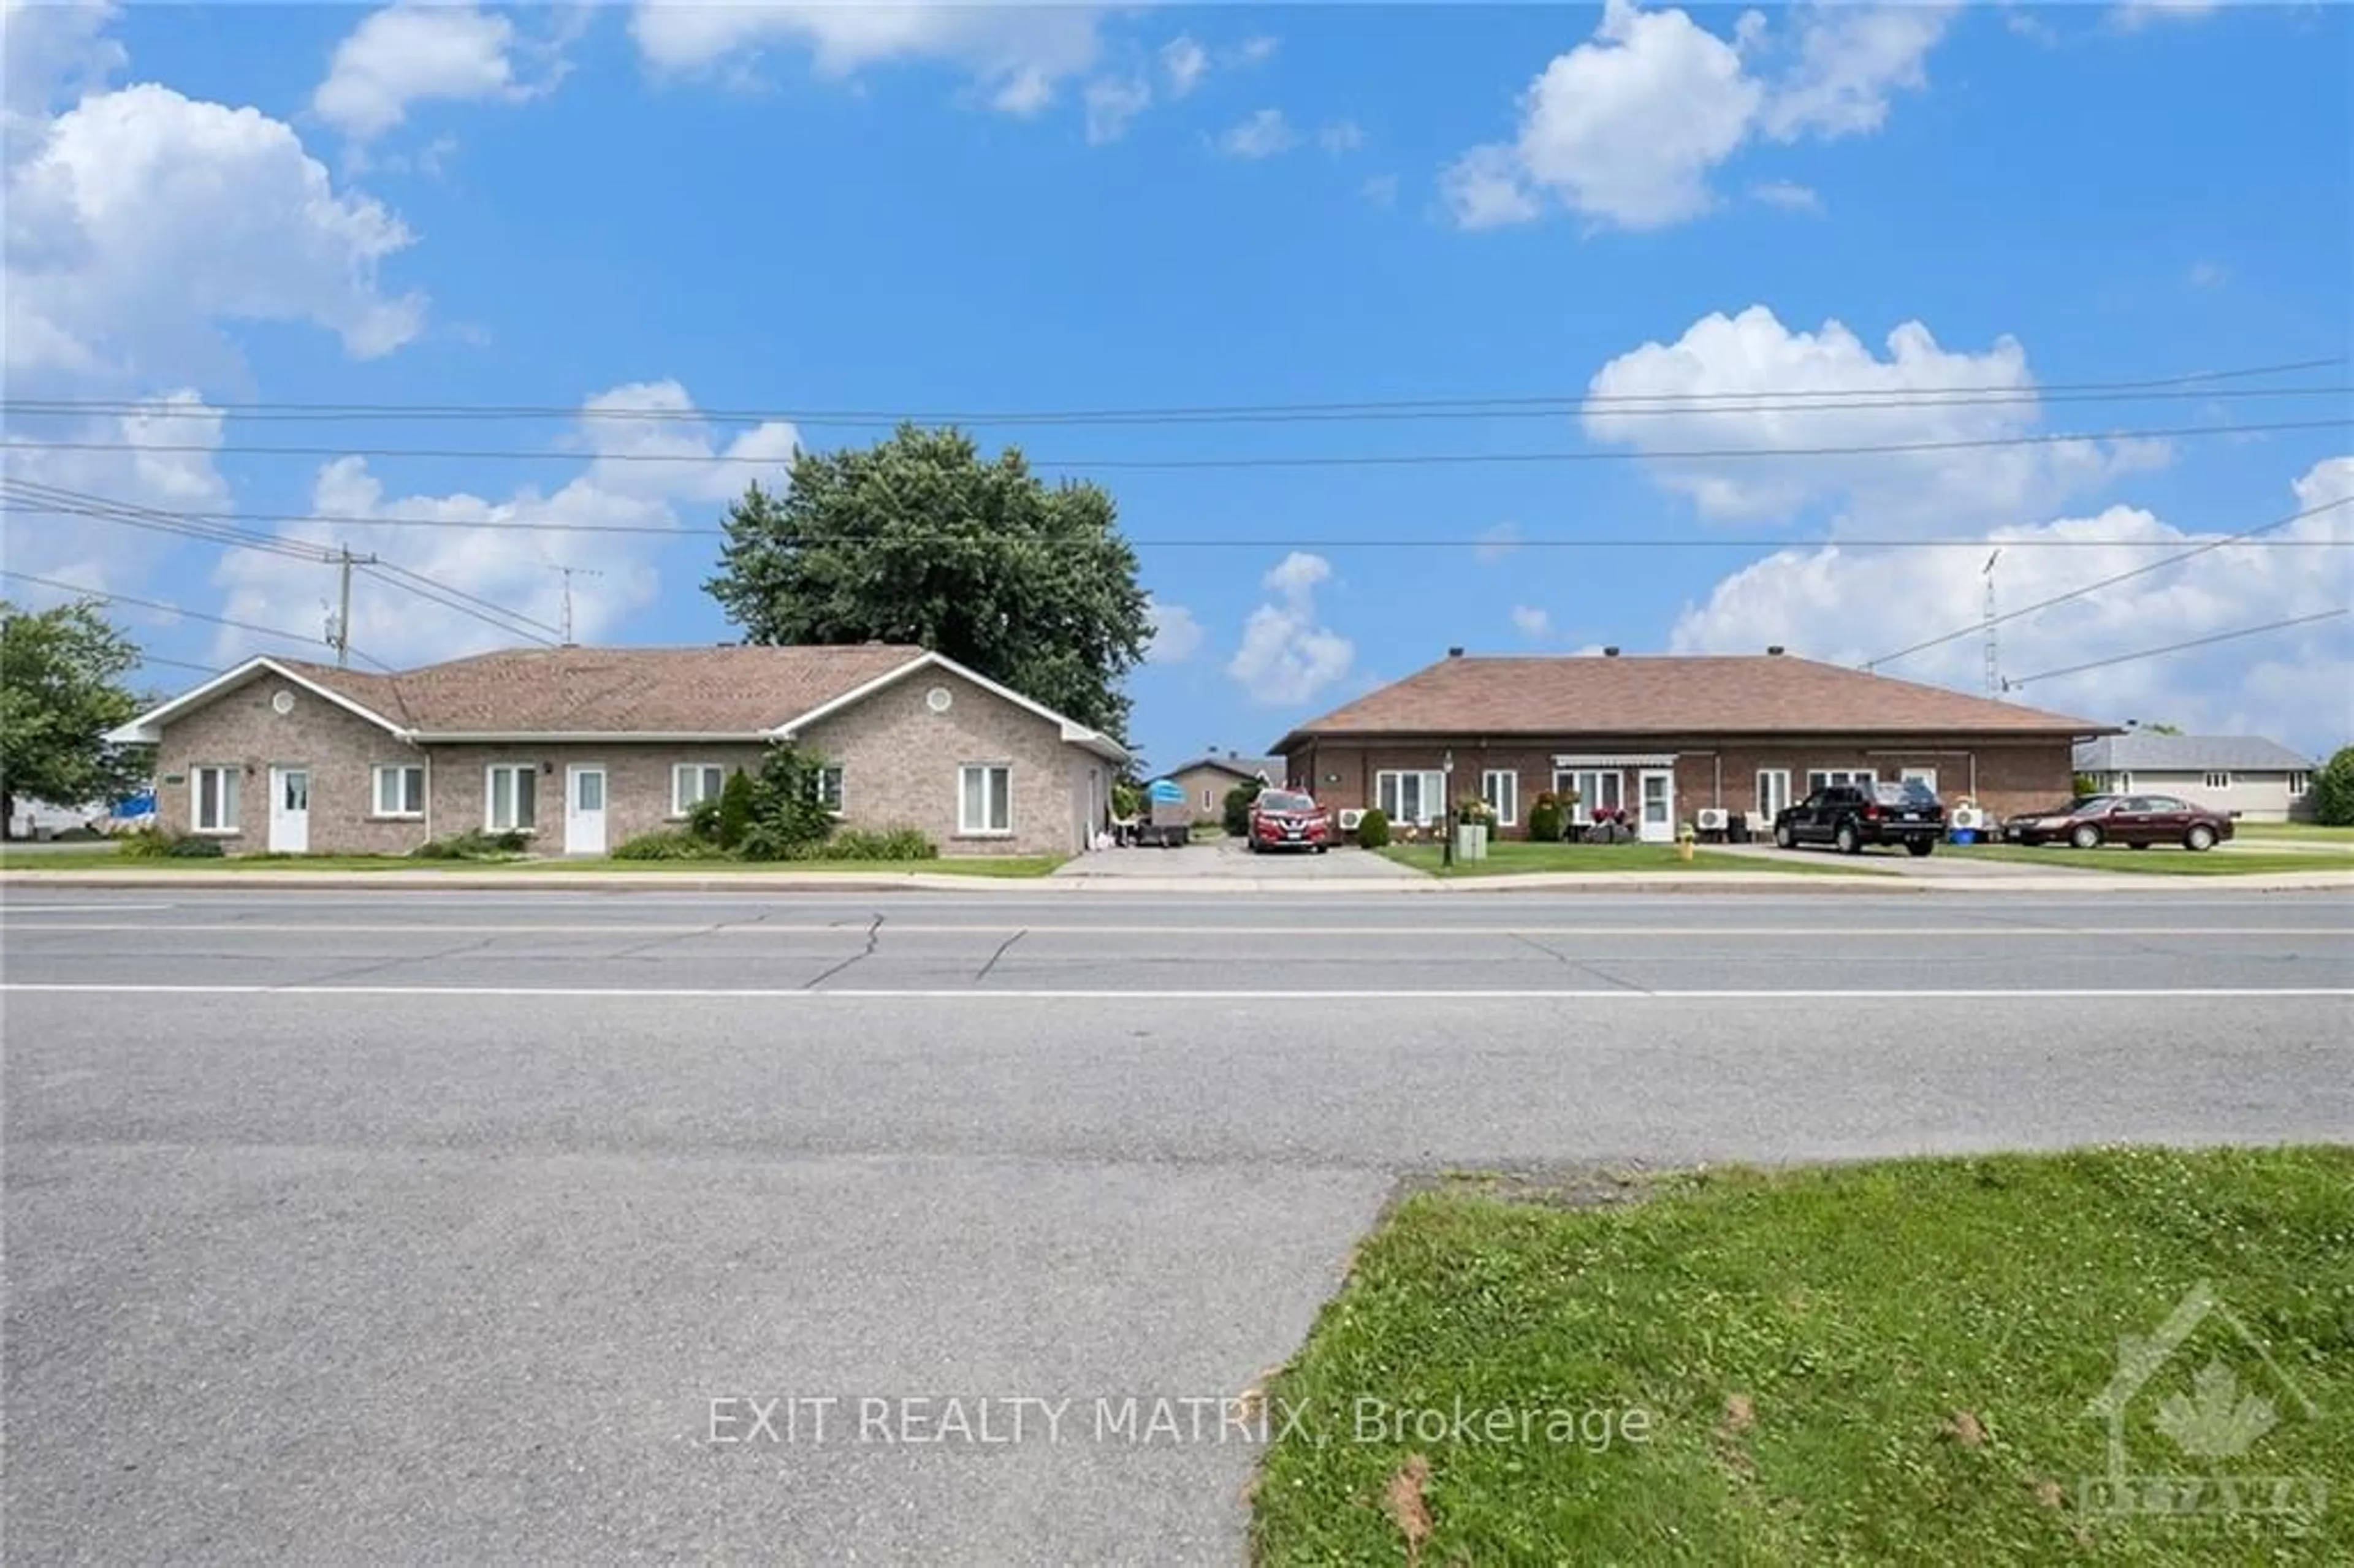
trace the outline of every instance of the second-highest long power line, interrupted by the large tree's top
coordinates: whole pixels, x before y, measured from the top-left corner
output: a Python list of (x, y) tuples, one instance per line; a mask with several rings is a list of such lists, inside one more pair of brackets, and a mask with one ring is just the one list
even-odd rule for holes
[[(1443, 469), (1474, 464), (1605, 464), (1605, 461), (1761, 461), (1784, 457), (1893, 457), (1907, 452), (1982, 452), (2100, 440), (2182, 440), (2192, 436), (2262, 436), (2281, 431), (2342, 431), (2354, 419), (2281, 419), (2267, 424), (2194, 424), (2140, 431), (2060, 431), (2046, 436), (1973, 436), (1961, 440), (1895, 440), (1822, 447), (1688, 447), (1629, 452), (1346, 452), (1311, 457), (1031, 457), (1031, 469), (1073, 473), (1191, 471), (1191, 469)], [(0, 440), (0, 452), (181, 452), (207, 457), (426, 457), (450, 461), (600, 461), (600, 464), (746, 464), (782, 466), (777, 457), (739, 452), (520, 452), (499, 447), (219, 447), (202, 443), (132, 440)]]

